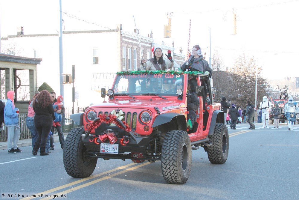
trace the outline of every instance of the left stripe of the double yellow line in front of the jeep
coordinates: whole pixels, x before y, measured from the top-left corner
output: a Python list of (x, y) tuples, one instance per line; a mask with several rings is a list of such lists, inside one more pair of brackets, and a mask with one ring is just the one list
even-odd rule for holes
[[(82, 183), (82, 182), (84, 182), (84, 181), (88, 181), (88, 180), (90, 180), (90, 179), (97, 178), (97, 177), (99, 177), (99, 176), (102, 176), (102, 175), (105, 175), (105, 174), (108, 174), (108, 173), (112, 173), (112, 172), (118, 171), (118, 170), (120, 170), (120, 169), (125, 169), (125, 168), (127, 168), (127, 167), (130, 167), (130, 166), (132, 166), (132, 165), (136, 165), (136, 164), (137, 164), (137, 163), (130, 163), (130, 164), (128, 164), (128, 165), (120, 166), (120, 167), (117, 167), (117, 168), (115, 168), (115, 169), (111, 169), (111, 170), (108, 170), (108, 171), (106, 171), (106, 172), (102, 172), (102, 173), (100, 173), (100, 174), (96, 174), (96, 175), (93, 175), (93, 176), (89, 176), (89, 177), (86, 177), (86, 178), (82, 178), (82, 179), (80, 179), (80, 180), (78, 180), (78, 181), (74, 181), (74, 182), (71, 182), (71, 183), (68, 183), (68, 184), (59, 186), (59, 187), (55, 187), (55, 188), (50, 189), (50, 190), (47, 190), (47, 191), (45, 191), (45, 192), (37, 193), (36, 195), (53, 193), (53, 192), (55, 192), (55, 191), (57, 191), (57, 190), (62, 190), (63, 188), (70, 187), (70, 186), (72, 186), (72, 185), (76, 185), (76, 184)], [(131, 168), (130, 168), (130, 169), (131, 169)], [(31, 199), (31, 198), (24, 198), (24, 199), (29, 200), (29, 199)]]

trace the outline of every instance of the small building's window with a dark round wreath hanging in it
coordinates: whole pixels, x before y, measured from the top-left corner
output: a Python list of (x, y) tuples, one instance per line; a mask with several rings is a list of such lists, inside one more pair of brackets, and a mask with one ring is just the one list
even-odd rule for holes
[(30, 100), (29, 70), (13, 70), (13, 91), (16, 94), (15, 101)]

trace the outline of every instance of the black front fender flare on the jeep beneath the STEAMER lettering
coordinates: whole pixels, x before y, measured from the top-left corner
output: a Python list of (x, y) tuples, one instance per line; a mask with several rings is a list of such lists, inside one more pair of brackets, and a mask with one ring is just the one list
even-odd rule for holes
[(166, 124), (168, 122), (171, 122), (172, 120), (176, 120), (178, 125), (182, 125), (182, 127), (187, 127), (185, 115), (182, 115), (179, 113), (168, 112), (168, 113), (163, 113), (163, 114), (158, 115), (155, 118), (154, 123), (152, 124), (152, 128), (157, 127), (162, 124)]

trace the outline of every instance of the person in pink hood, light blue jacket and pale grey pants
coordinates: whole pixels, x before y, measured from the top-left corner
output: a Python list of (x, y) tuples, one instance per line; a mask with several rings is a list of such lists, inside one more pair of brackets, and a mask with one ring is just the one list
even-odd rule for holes
[(7, 102), (4, 107), (4, 123), (7, 127), (7, 149), (9, 154), (15, 154), (22, 152), (18, 148), (18, 142), (21, 135), (21, 129), (19, 127), (19, 112), (14, 104), (16, 94), (14, 91), (7, 92)]

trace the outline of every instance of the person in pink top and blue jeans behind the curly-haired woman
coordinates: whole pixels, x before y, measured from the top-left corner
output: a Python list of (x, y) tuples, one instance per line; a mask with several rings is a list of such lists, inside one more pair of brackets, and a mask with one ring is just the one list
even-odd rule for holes
[[(34, 93), (34, 97), (36, 97), (37, 95), (39, 94), (39, 91), (36, 91)], [(34, 146), (34, 143), (36, 142), (36, 138), (38, 136), (38, 133), (37, 133), (37, 130), (34, 126), (34, 115), (35, 115), (35, 112), (33, 110), (33, 102), (32, 102), (33, 99), (30, 100), (29, 102), (29, 106), (28, 106), (28, 115), (27, 115), (27, 118), (26, 118), (26, 126), (27, 128), (30, 130), (31, 132), (31, 135), (32, 135), (32, 149), (33, 149), (33, 146)]]

